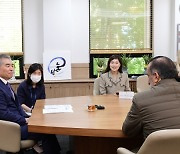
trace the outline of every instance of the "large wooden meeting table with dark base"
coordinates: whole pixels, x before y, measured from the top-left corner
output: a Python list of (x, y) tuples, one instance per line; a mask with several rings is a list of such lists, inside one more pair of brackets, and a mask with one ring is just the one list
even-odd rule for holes
[[(129, 138), (122, 132), (131, 104), (131, 99), (121, 99), (116, 95), (38, 100), (28, 130), (72, 136), (75, 154), (116, 154), (120, 146), (133, 149), (141, 144), (140, 138)], [(70, 105), (73, 112), (43, 113), (46, 105)], [(105, 109), (89, 111), (88, 105), (101, 105)]]

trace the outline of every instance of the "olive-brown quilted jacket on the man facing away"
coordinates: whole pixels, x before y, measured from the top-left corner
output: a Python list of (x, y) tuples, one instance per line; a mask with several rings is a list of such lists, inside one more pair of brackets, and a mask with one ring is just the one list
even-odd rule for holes
[(180, 129), (180, 82), (175, 79), (161, 80), (132, 103), (122, 128), (126, 135), (146, 138), (157, 130)]

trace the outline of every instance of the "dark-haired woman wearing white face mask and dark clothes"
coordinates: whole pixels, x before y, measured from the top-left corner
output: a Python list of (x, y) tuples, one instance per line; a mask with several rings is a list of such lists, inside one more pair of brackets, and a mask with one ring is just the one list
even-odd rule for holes
[(34, 63), (28, 69), (27, 79), (17, 89), (19, 103), (26, 112), (31, 112), (37, 99), (45, 99), (43, 68)]

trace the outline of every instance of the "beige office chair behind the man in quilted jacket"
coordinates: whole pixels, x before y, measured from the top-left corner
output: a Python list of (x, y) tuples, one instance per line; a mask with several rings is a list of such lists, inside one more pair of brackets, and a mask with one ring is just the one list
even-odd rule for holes
[[(117, 154), (135, 154), (118, 148)], [(151, 133), (137, 154), (180, 154), (180, 129), (167, 129)]]

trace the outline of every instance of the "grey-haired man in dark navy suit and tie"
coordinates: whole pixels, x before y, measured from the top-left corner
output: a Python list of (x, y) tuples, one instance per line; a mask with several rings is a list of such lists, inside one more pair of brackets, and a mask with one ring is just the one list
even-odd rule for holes
[(14, 72), (13, 63), (8, 55), (0, 55), (0, 119), (18, 123), (21, 139), (42, 140), (44, 154), (59, 154), (60, 146), (55, 135), (28, 132), (28, 115), (22, 110), (16, 94), (8, 80)]

